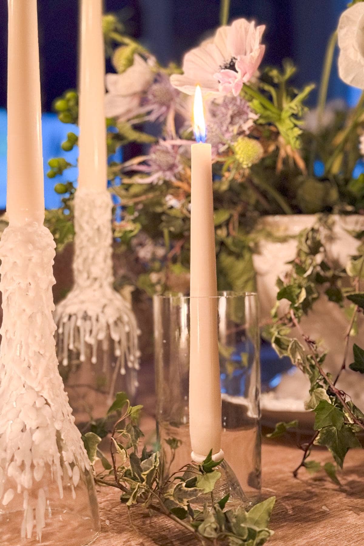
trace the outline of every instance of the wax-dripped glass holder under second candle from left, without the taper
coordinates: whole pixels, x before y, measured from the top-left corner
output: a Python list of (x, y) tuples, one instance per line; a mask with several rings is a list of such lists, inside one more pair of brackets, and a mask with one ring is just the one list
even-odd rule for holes
[(111, 217), (106, 189), (77, 189), (74, 286), (55, 311), (60, 371), (76, 422), (105, 415), (120, 390), (132, 400), (138, 386), (139, 329), (113, 288)]

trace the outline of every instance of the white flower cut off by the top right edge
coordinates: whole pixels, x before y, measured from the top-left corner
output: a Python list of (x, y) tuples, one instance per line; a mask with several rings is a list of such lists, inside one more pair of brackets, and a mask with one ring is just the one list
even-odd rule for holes
[(339, 76), (345, 84), (364, 89), (364, 3), (344, 11), (338, 26)]

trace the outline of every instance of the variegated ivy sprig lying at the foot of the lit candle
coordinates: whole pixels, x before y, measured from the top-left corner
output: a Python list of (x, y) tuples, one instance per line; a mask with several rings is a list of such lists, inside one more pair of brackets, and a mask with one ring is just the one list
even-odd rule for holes
[[(275, 497), (248, 512), (244, 507), (229, 508), (229, 495), (214, 498), (222, 461), (214, 462), (212, 451), (200, 465), (191, 463), (163, 478), (159, 453), (140, 446), (144, 436), (138, 426), (141, 409), (142, 406), (130, 406), (126, 393), (118, 393), (108, 415), (91, 422), (91, 430), (82, 436), (91, 464), (100, 459), (104, 467), (102, 472), (95, 472), (96, 483), (119, 489), (121, 503), (128, 508), (130, 517), (132, 507), (140, 505), (175, 521), (201, 544), (265, 544), (273, 534), (268, 525)], [(99, 449), (102, 438), (109, 433), (112, 464)], [(175, 438), (166, 442), (172, 450), (180, 446)]]

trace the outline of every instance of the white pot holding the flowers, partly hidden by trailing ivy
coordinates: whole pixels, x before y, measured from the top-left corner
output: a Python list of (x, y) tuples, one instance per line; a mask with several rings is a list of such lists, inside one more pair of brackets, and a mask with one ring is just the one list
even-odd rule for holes
[[(333, 227), (332, 230), (327, 230), (324, 235), (327, 253), (325, 259), (331, 264), (345, 268), (350, 256), (356, 254), (356, 249), (359, 246), (359, 241), (349, 232), (364, 229), (364, 217), (360, 215), (332, 215), (330, 218), (333, 220)], [(283, 277), (291, 267), (288, 262), (296, 256), (296, 236), (303, 229), (311, 228), (315, 222), (317, 222), (317, 216), (315, 215), (266, 216), (262, 218), (260, 228), (264, 228), (276, 236), (288, 236), (289, 238), (285, 242), (261, 239), (259, 252), (253, 256), (261, 321), (263, 323), (269, 321), (270, 311), (276, 302), (277, 277)], [(363, 323), (362, 318), (359, 318), (359, 327), (363, 326)], [(329, 358), (325, 360), (325, 367), (333, 375), (339, 371), (342, 364), (344, 336), (348, 325), (349, 322), (345, 316), (344, 308), (339, 307), (335, 302), (329, 301), (325, 294), (320, 295), (320, 298), (313, 305), (313, 310), (307, 316), (304, 316), (301, 321), (303, 331), (315, 340), (322, 340), (329, 351)], [(293, 335), (299, 336), (295, 330)], [(355, 342), (360, 345), (360, 340), (351, 337), (349, 359), (353, 357), (352, 347)], [(338, 387), (350, 393), (353, 402), (364, 409), (364, 379), (360, 378), (357, 373), (345, 370)], [(293, 373), (283, 373), (274, 395), (271, 394), (268, 397), (262, 395), (262, 409), (281, 411), (287, 408), (289, 411), (302, 411), (308, 388), (308, 379), (299, 369), (295, 369)]]

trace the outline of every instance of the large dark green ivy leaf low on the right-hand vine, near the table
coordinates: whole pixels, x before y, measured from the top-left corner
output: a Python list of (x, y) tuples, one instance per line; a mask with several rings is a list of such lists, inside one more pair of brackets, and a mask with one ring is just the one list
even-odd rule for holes
[(361, 447), (354, 432), (348, 425), (343, 425), (341, 430), (335, 426), (325, 426), (321, 429), (314, 441), (317, 446), (326, 446), (340, 468), (343, 467), (345, 455), (350, 448)]

